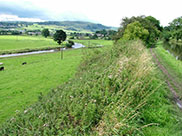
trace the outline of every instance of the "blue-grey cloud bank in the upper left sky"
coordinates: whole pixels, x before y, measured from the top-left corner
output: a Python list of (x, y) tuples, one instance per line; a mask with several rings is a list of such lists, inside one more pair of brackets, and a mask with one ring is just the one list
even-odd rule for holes
[[(3, 1), (3, 2), (2, 2)], [(41, 9), (32, 5), (31, 2), (21, 1), (8, 2), (5, 0), (0, 0), (0, 14), (10, 14), (16, 15), (20, 18), (38, 18), (42, 20), (51, 21), (91, 21), (86, 16), (82, 14), (77, 14), (73, 12), (63, 12), (60, 14), (54, 14), (48, 11), (48, 9)]]

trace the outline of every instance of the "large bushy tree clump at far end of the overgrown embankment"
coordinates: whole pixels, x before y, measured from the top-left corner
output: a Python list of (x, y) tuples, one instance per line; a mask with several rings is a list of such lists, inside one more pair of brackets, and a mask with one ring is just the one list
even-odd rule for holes
[[(134, 22), (139, 22), (139, 23), (134, 23)], [(159, 38), (160, 36), (160, 31), (162, 30), (162, 27), (160, 26), (160, 22), (155, 19), (154, 17), (152, 16), (138, 16), (138, 17), (131, 17), (131, 18), (123, 18), (122, 22), (121, 22), (121, 26), (120, 28), (118, 29), (118, 33), (117, 35), (115, 36), (115, 40), (119, 40), (121, 37), (124, 36), (125, 33), (128, 33), (128, 28), (127, 26), (131, 23), (134, 23), (132, 24), (132, 29), (135, 29), (135, 25), (136, 25), (136, 29), (145, 29), (143, 31), (143, 34), (141, 34), (140, 32), (140, 35), (135, 35), (135, 38), (134, 39), (141, 39), (145, 42), (146, 46), (148, 47), (151, 47), (151, 46), (155, 46), (156, 42), (157, 42), (157, 39)], [(126, 30), (127, 29), (127, 30)], [(130, 29), (131, 29), (131, 26), (130, 26)], [(147, 34), (147, 31), (148, 31), (148, 34)], [(127, 32), (125, 32), (127, 31)], [(138, 30), (136, 30), (138, 31)], [(130, 34), (132, 33), (132, 31), (130, 31)], [(141, 35), (145, 35), (144, 37)], [(133, 38), (131, 38), (133, 39)]]

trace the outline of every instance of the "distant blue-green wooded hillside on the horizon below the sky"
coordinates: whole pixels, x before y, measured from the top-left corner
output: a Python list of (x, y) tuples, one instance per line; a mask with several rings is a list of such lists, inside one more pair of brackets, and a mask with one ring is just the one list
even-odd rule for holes
[(64, 29), (65, 31), (76, 32), (95, 32), (103, 29), (117, 29), (115, 27), (108, 27), (102, 24), (95, 24), (83, 21), (47, 21), (47, 22), (0, 22), (0, 29), (43, 29), (47, 27), (50, 29)]

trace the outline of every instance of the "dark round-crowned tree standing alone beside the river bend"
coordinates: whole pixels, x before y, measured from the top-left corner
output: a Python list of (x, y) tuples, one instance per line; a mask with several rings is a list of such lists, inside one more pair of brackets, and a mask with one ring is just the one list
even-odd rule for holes
[(66, 33), (63, 30), (57, 30), (53, 36), (54, 41), (56, 41), (59, 45), (66, 40)]

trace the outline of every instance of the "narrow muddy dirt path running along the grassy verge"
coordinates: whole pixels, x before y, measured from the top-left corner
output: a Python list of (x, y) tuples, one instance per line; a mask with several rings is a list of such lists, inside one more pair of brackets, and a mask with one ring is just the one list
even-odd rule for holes
[(159, 69), (162, 71), (162, 73), (167, 77), (166, 78), (166, 83), (170, 89), (170, 91), (172, 92), (173, 96), (174, 96), (174, 100), (176, 102), (176, 104), (178, 105), (178, 107), (182, 110), (182, 102), (179, 99), (179, 96), (177, 95), (175, 89), (173, 86), (175, 86), (177, 89), (181, 90), (182, 86), (180, 84), (178, 84), (174, 78), (171, 76), (171, 74), (166, 70), (166, 68), (160, 63), (159, 59), (156, 57), (156, 54), (154, 53), (153, 49), (150, 49), (150, 52), (153, 56), (154, 61), (156, 62), (157, 66), (159, 67)]

